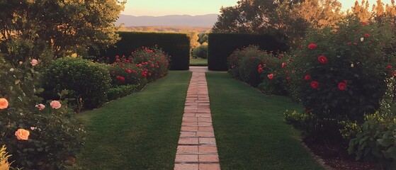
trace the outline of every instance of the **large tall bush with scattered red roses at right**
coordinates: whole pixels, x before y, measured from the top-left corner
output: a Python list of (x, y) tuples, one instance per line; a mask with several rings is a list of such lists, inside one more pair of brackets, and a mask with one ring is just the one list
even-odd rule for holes
[(291, 93), (324, 130), (310, 137), (339, 144), (342, 125), (362, 123), (363, 114), (378, 109), (392, 69), (392, 57), (384, 53), (392, 42), (389, 30), (347, 18), (336, 28), (310, 30), (295, 50)]

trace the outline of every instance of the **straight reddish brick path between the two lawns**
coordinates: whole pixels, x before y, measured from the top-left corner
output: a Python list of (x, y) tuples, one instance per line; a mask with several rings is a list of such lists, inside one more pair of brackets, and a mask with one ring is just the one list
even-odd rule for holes
[(177, 147), (175, 170), (220, 170), (208, 86), (208, 67), (190, 67), (186, 105)]

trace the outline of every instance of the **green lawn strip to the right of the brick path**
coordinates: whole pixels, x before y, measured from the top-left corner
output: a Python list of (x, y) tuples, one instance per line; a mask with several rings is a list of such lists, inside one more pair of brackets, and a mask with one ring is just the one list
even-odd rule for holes
[(282, 96), (265, 96), (226, 73), (207, 73), (220, 166), (225, 169), (324, 169), (283, 121), (300, 109)]

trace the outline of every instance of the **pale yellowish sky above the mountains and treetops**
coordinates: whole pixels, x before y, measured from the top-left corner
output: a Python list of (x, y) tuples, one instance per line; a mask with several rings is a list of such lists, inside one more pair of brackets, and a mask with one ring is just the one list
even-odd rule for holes
[[(266, 0), (263, 0), (266, 1)], [(339, 0), (344, 10), (351, 8), (355, 0)], [(358, 0), (359, 2), (361, 0)], [(368, 0), (370, 6), (376, 0)], [(382, 0), (390, 4), (390, 0)], [(220, 13), (221, 6), (235, 6), (237, 0), (128, 0), (123, 14), (133, 16), (166, 16), (166, 15), (204, 15)]]

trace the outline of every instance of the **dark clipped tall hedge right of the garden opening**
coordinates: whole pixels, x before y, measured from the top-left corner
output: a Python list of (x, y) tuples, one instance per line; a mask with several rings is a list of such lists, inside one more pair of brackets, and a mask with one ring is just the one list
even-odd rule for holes
[(208, 69), (213, 71), (227, 71), (227, 57), (242, 47), (257, 45), (267, 51), (288, 49), (285, 43), (267, 34), (210, 33), (208, 42)]

